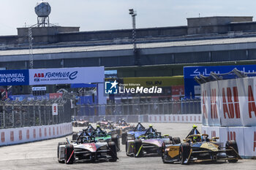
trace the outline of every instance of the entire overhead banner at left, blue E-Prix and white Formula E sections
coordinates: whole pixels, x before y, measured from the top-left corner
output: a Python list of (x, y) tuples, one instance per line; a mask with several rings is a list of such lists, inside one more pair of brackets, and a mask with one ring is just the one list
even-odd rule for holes
[(1, 85), (55, 85), (104, 82), (104, 66), (0, 70)]

